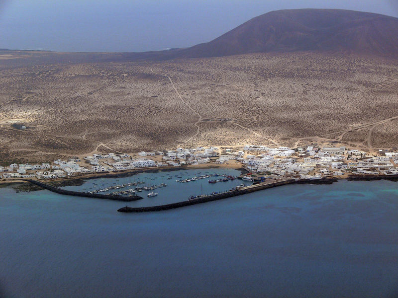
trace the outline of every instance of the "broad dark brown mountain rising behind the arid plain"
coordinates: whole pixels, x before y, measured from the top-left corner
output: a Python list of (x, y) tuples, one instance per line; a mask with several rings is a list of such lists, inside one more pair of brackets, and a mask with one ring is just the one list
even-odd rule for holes
[(398, 18), (339, 9), (271, 11), (208, 43), (168, 56), (196, 58), (294, 51), (398, 56)]

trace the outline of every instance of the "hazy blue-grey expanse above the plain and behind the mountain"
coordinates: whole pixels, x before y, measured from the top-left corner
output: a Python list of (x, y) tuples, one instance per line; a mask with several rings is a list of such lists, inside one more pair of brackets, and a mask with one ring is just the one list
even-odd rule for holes
[(398, 0), (0, 0), (0, 48), (139, 52), (210, 41), (271, 10), (398, 17)]

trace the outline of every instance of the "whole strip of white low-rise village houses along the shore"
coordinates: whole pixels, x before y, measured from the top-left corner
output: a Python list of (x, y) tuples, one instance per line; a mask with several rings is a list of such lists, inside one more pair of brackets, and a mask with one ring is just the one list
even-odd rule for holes
[[(92, 154), (54, 160), (42, 164), (0, 166), (6, 180), (21, 178), (51, 180), (82, 175), (99, 175), (137, 169), (182, 166), (225, 166), (245, 168), (257, 175), (277, 175), (315, 180), (323, 177), (346, 178), (349, 175), (398, 175), (398, 152), (380, 149), (371, 155), (345, 147), (307, 146), (269, 148), (246, 145), (242, 148), (191, 148), (164, 151), (141, 151), (132, 154)], [(246, 177), (249, 178), (250, 177)]]

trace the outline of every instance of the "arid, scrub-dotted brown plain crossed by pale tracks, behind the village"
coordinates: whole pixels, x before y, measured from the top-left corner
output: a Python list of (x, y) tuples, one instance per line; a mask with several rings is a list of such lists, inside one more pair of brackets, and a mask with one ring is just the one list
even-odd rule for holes
[(0, 52), (3, 163), (198, 145), (398, 146), (395, 60), (301, 52), (164, 62), (109, 54), (98, 62), (100, 54), (77, 55)]

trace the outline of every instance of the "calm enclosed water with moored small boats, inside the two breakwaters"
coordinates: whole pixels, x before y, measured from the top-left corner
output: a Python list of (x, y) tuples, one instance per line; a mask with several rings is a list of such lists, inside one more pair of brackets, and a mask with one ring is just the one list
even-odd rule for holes
[[(83, 185), (69, 185), (61, 188), (82, 192), (85, 192), (84, 189), (86, 189), (86, 192), (90, 191), (95, 194), (119, 196), (135, 194), (143, 199), (129, 204), (134, 207), (146, 207), (188, 201), (191, 196), (226, 192), (242, 183), (245, 186), (252, 184), (251, 181), (238, 180), (236, 177), (240, 174), (240, 171), (228, 168), (179, 169), (168, 172), (143, 172), (118, 178), (87, 179), (84, 180)], [(228, 176), (234, 179), (228, 178), (222, 183), (208, 182), (215, 178), (226, 179)], [(179, 182), (179, 180), (187, 182)], [(148, 197), (150, 193), (157, 193), (157, 195)]]

